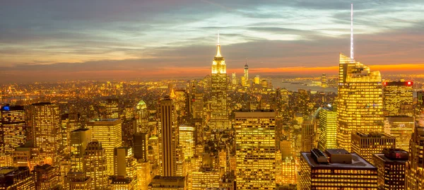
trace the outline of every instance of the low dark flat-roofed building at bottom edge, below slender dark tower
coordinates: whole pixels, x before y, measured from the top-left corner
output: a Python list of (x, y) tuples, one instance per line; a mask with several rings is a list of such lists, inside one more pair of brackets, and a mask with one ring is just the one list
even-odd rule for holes
[(148, 184), (148, 190), (186, 190), (185, 177), (163, 177), (155, 176), (151, 184)]

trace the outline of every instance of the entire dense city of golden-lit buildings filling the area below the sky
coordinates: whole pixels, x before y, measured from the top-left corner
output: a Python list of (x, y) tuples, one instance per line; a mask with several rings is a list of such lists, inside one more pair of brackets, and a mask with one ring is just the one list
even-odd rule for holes
[(419, 82), (339, 56), (322, 90), (230, 78), (219, 36), (201, 80), (11, 85), (0, 189), (424, 189)]

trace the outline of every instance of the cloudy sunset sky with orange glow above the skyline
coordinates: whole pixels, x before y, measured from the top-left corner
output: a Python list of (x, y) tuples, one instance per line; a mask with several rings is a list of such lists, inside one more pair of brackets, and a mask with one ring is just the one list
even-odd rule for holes
[(349, 54), (424, 73), (424, 1), (16, 0), (0, 5), (0, 81), (206, 76), (220, 31), (228, 73), (337, 71)]

